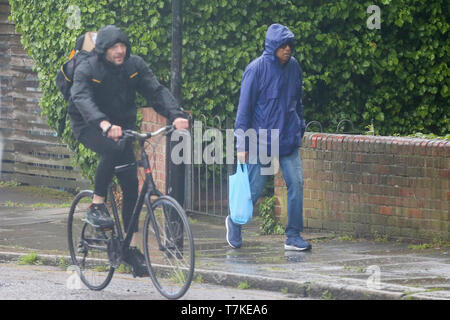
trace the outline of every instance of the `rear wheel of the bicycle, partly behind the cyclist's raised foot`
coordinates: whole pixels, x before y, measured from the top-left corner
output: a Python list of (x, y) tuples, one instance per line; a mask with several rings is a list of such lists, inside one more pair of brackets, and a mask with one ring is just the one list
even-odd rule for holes
[(85, 222), (94, 193), (81, 191), (70, 207), (67, 223), (70, 256), (81, 281), (91, 290), (104, 289), (114, 274), (108, 259), (111, 231), (98, 231)]

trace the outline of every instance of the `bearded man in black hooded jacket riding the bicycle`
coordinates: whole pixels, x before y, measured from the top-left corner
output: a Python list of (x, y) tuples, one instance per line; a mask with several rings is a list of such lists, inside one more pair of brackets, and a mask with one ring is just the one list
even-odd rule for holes
[[(128, 36), (114, 25), (98, 31), (94, 54), (77, 66), (71, 88), (68, 113), (75, 138), (100, 155), (95, 174), (94, 197), (86, 213), (88, 223), (111, 229), (114, 221), (105, 206), (114, 167), (136, 163), (132, 142), (117, 143), (126, 129), (136, 129), (136, 92), (156, 112), (173, 122), (176, 129), (187, 129), (189, 121), (170, 91), (162, 86), (145, 61), (131, 54)], [(123, 192), (122, 218), (128, 230), (138, 195), (137, 166), (117, 173)], [(135, 234), (138, 231), (135, 226)], [(147, 273), (145, 257), (133, 237), (125, 254), (137, 275)]]

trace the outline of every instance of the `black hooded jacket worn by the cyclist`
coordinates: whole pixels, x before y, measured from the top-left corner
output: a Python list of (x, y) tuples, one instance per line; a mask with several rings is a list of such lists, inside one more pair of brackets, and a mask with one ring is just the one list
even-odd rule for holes
[[(106, 50), (118, 42), (127, 47), (120, 66), (105, 58)], [(158, 82), (141, 57), (130, 54), (130, 49), (128, 36), (122, 30), (106, 26), (97, 34), (94, 54), (77, 66), (68, 107), (76, 138), (87, 126), (100, 128), (102, 120), (136, 129), (136, 92), (170, 121), (186, 118), (170, 91)]]

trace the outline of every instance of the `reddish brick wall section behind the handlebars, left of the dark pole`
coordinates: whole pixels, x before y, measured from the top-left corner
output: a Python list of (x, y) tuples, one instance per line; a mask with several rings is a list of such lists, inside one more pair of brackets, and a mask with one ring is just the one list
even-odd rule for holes
[[(151, 108), (142, 109), (142, 114), (142, 132), (156, 131), (166, 125), (166, 118), (157, 114)], [(146, 151), (149, 155), (153, 179), (155, 180), (158, 190), (162, 193), (166, 193), (166, 137), (159, 135), (150, 141), (152, 147), (147, 144)], [(144, 173), (142, 172), (142, 174), (139, 175), (140, 183), (142, 183), (143, 177)]]

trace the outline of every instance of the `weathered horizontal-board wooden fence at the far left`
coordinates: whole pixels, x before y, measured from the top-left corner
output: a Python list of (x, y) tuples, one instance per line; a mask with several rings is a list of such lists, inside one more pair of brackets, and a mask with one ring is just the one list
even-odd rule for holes
[(0, 0), (0, 179), (52, 188), (88, 188), (73, 167), (72, 153), (41, 116), (33, 61), (8, 20), (10, 7)]

